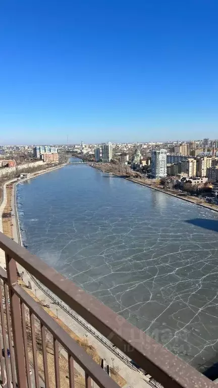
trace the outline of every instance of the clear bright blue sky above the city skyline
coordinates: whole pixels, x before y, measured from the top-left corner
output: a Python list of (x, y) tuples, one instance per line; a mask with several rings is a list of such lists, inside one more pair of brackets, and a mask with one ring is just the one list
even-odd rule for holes
[(218, 138), (217, 0), (7, 0), (0, 144)]

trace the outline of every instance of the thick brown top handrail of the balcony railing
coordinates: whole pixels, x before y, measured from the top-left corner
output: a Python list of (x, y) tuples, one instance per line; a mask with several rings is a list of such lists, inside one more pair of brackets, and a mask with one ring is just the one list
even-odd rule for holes
[(0, 248), (163, 386), (215, 387), (197, 370), (1, 232)]

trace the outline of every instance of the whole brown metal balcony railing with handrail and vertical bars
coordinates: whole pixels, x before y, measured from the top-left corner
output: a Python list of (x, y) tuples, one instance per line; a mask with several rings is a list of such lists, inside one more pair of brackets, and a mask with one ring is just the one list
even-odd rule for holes
[[(46, 388), (49, 387), (46, 330), (53, 338), (52, 351), (57, 388), (61, 387), (60, 347), (64, 348), (68, 355), (70, 388), (75, 386), (74, 361), (84, 371), (86, 388), (91, 388), (92, 380), (101, 388), (118, 387), (117, 383), (21, 287), (17, 278), (16, 263), (18, 263), (137, 365), (146, 370), (163, 387), (212, 388), (216, 386), (194, 368), (156, 343), (151, 337), (2, 233), (0, 233), (0, 248), (5, 251), (6, 255), (6, 271), (0, 268), (0, 278), (2, 279), (0, 286), (2, 325), (0, 365), (3, 385), (8, 386), (7, 381), (11, 379), (14, 387), (16, 387), (16, 381), (20, 388), (31, 387), (27, 346), (27, 322), (29, 322), (35, 386), (36, 388), (40, 386), (35, 333), (37, 321), (40, 324), (43, 379)], [(4, 364), (2, 348), (5, 349), (5, 356), (7, 349), (10, 349), (11, 365), (9, 365), (7, 357), (5, 357)], [(13, 368), (13, 365), (16, 367)]]

